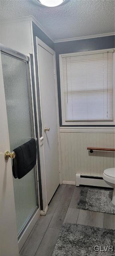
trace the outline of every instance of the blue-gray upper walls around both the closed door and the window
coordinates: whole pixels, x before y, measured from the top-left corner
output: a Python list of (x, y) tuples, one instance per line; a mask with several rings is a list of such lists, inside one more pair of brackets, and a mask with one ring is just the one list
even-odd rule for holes
[[(53, 43), (52, 40), (48, 36), (46, 36), (46, 34), (44, 32), (42, 32), (41, 29), (38, 28), (33, 22), (32, 22), (32, 27), (33, 27), (33, 38), (34, 38), (36, 74), (38, 74), (37, 58), (36, 58), (36, 36), (39, 39), (41, 39), (45, 44), (47, 44), (50, 48), (55, 50), (55, 52), (56, 52), (59, 120), (60, 120), (60, 126), (62, 126), (59, 54), (114, 48), (115, 47), (115, 36), (105, 36), (105, 37), (97, 37), (97, 38), (90, 38), (90, 39), (83, 39), (83, 40), (76, 40), (76, 41)], [(36, 76), (36, 80), (37, 80), (37, 84), (38, 84), (37, 96), (38, 96), (39, 117), (40, 117), (41, 114), (40, 114), (38, 75)], [(41, 134), (41, 132), (42, 132), (41, 118), (39, 120), (39, 129), (40, 129), (40, 135), (42, 136), (42, 134)]]

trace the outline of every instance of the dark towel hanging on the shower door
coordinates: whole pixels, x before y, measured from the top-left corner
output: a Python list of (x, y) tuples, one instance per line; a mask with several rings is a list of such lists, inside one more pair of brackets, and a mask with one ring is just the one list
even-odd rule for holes
[(13, 150), (16, 154), (13, 159), (13, 176), (21, 179), (30, 172), (36, 164), (37, 150), (36, 141), (31, 139)]

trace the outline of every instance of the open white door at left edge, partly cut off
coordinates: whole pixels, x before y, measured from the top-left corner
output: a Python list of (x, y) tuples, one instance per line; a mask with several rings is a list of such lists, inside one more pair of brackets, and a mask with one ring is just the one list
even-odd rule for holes
[(4, 158), (6, 150), (10, 143), (0, 55), (0, 256), (18, 256), (12, 166)]

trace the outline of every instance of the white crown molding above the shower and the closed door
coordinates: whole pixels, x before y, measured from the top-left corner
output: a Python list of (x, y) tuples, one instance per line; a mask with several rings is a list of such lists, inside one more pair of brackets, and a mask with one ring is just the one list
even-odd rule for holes
[(54, 38), (52, 38), (48, 32), (45, 30), (45, 28), (31, 15), (31, 16), (25, 16), (25, 17), (20, 17), (20, 18), (16, 18), (16, 19), (10, 19), (10, 20), (4, 20), (4, 21), (0, 21), (1, 25), (4, 24), (10, 24), (10, 23), (14, 23), (14, 22), (21, 22), (21, 21), (26, 21), (26, 20), (31, 20), (33, 21), (33, 23), (41, 29), (41, 31), (49, 37), (49, 39), (54, 43)]

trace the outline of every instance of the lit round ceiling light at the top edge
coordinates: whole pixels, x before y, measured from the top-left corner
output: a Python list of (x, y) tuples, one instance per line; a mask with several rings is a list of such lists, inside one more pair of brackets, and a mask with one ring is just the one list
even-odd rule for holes
[(62, 4), (63, 2), (68, 2), (67, 0), (36, 0), (34, 1), (42, 6), (47, 6), (47, 7), (55, 7), (58, 6), (60, 4)]

